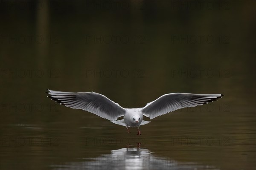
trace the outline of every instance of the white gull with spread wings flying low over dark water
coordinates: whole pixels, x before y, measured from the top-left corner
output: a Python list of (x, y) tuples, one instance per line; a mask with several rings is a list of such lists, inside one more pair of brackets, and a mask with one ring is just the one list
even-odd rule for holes
[[(171, 93), (160, 96), (143, 108), (122, 108), (118, 103), (95, 92), (73, 93), (47, 89), (46, 93), (49, 94), (47, 97), (61, 105), (82, 109), (108, 119), (117, 125), (125, 126), (128, 133), (131, 133), (128, 127), (137, 127), (137, 135), (141, 135), (140, 126), (149, 123), (143, 120), (143, 116), (154, 119), (177, 109), (204, 105), (223, 96), (223, 94)], [(123, 119), (117, 120), (121, 116)]]

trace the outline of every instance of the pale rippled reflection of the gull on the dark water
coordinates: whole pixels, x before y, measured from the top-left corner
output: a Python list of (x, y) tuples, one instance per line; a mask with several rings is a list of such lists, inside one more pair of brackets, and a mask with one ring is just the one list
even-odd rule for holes
[(82, 160), (52, 167), (56, 170), (216, 170), (212, 166), (158, 157), (147, 148), (140, 148), (140, 144), (137, 147), (111, 150), (111, 154)]

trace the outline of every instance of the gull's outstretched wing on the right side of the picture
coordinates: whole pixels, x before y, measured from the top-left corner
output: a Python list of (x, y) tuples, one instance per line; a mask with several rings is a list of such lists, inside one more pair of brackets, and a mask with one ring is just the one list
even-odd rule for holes
[(221, 98), (223, 94), (189, 94), (171, 93), (165, 94), (153, 102), (148, 103), (143, 109), (143, 115), (154, 119), (157, 116), (176, 111), (177, 109), (195, 107), (213, 102)]

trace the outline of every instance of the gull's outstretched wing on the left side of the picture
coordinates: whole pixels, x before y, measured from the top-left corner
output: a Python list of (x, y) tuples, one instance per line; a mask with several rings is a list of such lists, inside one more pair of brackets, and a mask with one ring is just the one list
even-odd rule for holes
[[(48, 89), (47, 89), (48, 90)], [(59, 102), (61, 105), (73, 109), (82, 109), (94, 113), (108, 120), (116, 120), (125, 115), (125, 109), (114, 103), (106, 96), (95, 92), (88, 93), (71, 93), (63, 91), (48, 90), (49, 98)]]

